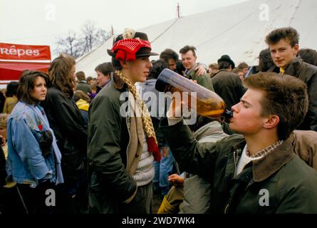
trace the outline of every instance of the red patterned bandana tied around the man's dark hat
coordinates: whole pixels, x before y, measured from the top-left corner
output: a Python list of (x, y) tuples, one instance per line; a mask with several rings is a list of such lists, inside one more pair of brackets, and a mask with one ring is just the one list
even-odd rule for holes
[(144, 41), (140, 38), (125, 38), (116, 42), (111, 51), (113, 53), (118, 51), (115, 56), (115, 59), (118, 61), (135, 61), (135, 53), (137, 53), (140, 48), (152, 49), (149, 41)]

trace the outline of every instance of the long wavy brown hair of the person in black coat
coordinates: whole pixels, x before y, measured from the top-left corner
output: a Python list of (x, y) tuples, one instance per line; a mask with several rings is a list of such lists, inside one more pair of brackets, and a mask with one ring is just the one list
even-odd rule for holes
[(56, 88), (65, 93), (69, 98), (73, 97), (73, 78), (71, 76), (71, 69), (75, 64), (75, 58), (61, 54), (53, 60), (50, 68), (48, 68), (51, 86), (56, 86)]

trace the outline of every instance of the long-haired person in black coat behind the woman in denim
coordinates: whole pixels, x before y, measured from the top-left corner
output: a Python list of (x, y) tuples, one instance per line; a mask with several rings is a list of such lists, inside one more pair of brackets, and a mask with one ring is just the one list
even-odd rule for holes
[[(75, 63), (71, 56), (61, 55), (53, 60), (48, 69), (52, 85), (43, 102), (62, 155), (61, 166), (65, 182), (61, 185), (61, 191), (58, 190), (56, 206), (64, 213), (80, 212), (80, 207), (85, 209), (87, 198), (87, 125), (71, 99)], [(74, 209), (73, 204), (80, 207)]]

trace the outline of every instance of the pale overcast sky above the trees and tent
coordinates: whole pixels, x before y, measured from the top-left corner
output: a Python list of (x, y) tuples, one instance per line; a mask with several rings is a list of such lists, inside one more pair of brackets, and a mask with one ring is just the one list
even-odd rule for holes
[(0, 42), (51, 46), (87, 20), (116, 34), (246, 0), (0, 0)]

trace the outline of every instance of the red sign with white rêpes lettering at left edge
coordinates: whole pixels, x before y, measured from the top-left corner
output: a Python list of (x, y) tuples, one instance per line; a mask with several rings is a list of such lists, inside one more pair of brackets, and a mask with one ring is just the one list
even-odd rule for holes
[(0, 43), (0, 61), (1, 60), (51, 61), (50, 46)]

